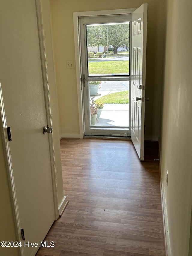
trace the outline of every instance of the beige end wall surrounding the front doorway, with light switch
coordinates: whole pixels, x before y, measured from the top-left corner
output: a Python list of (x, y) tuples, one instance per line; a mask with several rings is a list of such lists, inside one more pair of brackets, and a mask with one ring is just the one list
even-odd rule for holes
[[(148, 3), (146, 97), (150, 98), (146, 102), (145, 136), (151, 139), (159, 137), (165, 1), (145, 2)], [(50, 0), (61, 136), (79, 134), (76, 71), (66, 68), (68, 60), (75, 62), (73, 12), (137, 8), (142, 4), (141, 0), (118, 3), (98, 0), (97, 4), (93, 0)]]

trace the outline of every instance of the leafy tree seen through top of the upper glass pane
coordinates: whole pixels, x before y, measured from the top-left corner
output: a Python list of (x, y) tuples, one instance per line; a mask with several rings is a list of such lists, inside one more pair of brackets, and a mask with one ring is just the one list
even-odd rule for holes
[(114, 54), (120, 46), (129, 47), (129, 23), (115, 25), (87, 26), (87, 45), (88, 46), (108, 46), (112, 45)]

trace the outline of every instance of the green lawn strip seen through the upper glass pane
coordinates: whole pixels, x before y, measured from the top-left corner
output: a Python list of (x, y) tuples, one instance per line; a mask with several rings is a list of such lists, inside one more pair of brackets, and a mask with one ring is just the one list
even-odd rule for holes
[(129, 61), (89, 62), (89, 74), (122, 74), (129, 73)]

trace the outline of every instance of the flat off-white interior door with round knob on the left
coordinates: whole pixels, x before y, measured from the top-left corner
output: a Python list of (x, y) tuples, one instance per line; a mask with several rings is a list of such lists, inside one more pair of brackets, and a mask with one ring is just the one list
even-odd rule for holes
[[(43, 241), (55, 220), (44, 86), (34, 0), (3, 1), (0, 8), (0, 79), (20, 228)], [(38, 248), (22, 246), (24, 255)]]

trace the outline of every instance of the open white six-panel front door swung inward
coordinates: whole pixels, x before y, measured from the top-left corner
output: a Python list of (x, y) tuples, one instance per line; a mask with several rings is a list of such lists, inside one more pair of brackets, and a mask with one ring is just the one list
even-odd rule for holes
[(144, 160), (147, 4), (132, 13), (131, 140)]

